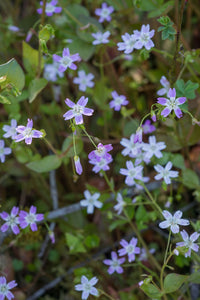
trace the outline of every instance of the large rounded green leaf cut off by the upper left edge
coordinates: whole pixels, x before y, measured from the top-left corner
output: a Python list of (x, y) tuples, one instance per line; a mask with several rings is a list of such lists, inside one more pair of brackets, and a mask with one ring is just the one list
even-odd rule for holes
[(23, 89), (25, 84), (24, 72), (14, 58), (0, 65), (0, 77), (1, 76), (6, 76), (4, 84), (12, 84), (18, 90)]

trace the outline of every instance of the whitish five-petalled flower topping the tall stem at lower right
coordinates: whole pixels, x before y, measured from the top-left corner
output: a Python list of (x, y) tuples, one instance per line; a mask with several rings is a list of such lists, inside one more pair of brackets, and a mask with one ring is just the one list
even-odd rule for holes
[(167, 210), (163, 210), (162, 214), (163, 214), (163, 217), (166, 219), (166, 221), (161, 222), (159, 224), (159, 227), (162, 229), (170, 227), (170, 229), (173, 233), (179, 232), (178, 225), (187, 226), (190, 224), (190, 222), (188, 220), (181, 219), (183, 213), (180, 210), (177, 210), (173, 216)]

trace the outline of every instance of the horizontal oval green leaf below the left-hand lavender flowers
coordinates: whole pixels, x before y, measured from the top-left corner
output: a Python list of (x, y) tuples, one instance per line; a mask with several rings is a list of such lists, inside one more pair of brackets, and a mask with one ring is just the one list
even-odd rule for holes
[(48, 155), (40, 160), (30, 162), (26, 166), (37, 173), (44, 173), (59, 168), (61, 162), (57, 155)]

